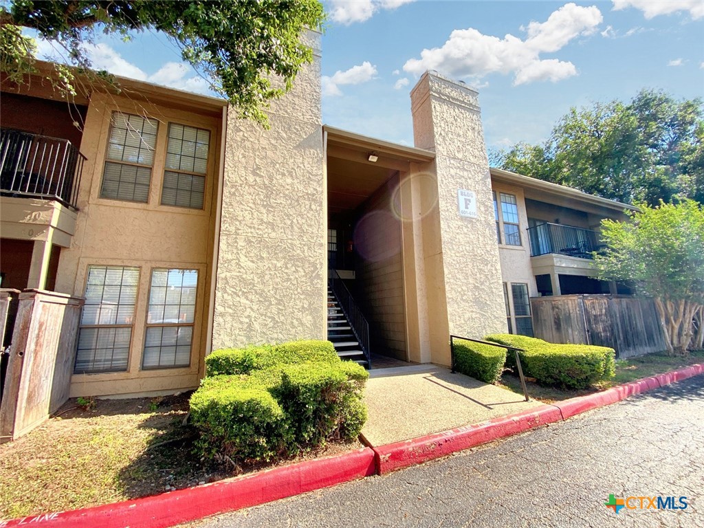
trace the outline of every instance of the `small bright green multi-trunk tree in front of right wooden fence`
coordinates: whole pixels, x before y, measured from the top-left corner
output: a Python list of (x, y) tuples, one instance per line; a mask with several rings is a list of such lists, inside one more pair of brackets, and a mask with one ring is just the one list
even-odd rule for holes
[(693, 200), (644, 203), (630, 215), (630, 222), (601, 222), (600, 278), (632, 280), (639, 294), (655, 299), (669, 353), (702, 348), (704, 207)]

